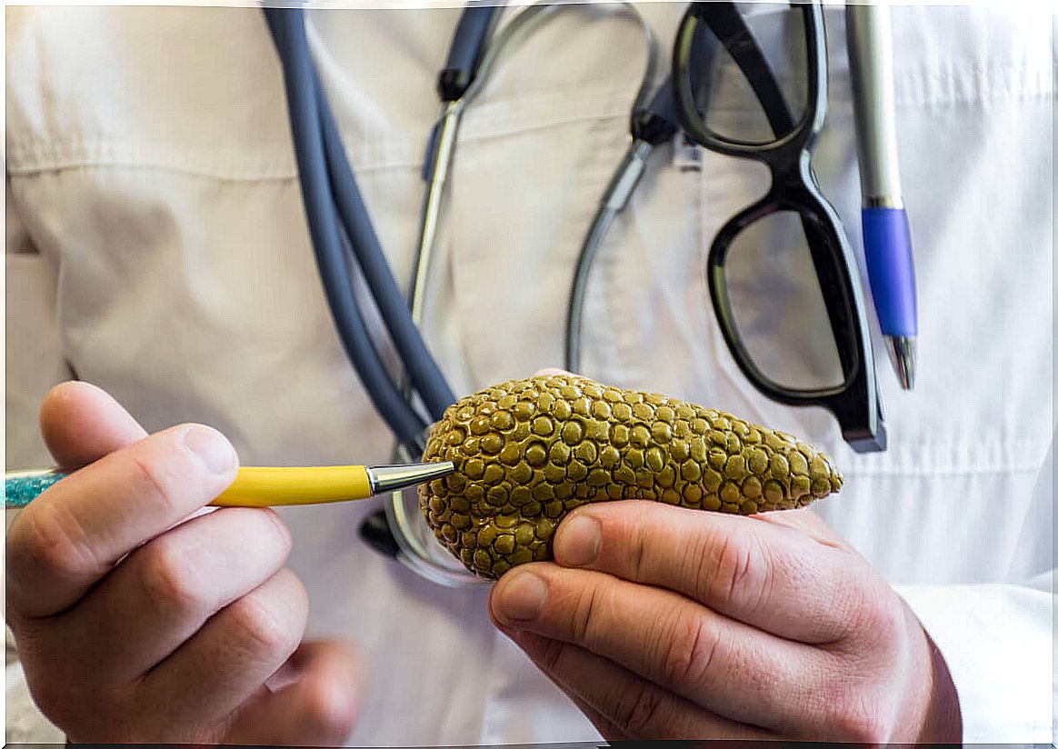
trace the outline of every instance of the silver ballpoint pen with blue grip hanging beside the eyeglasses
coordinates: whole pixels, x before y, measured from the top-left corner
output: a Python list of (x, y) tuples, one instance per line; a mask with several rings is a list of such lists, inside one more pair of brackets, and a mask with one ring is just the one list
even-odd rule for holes
[(910, 390), (915, 384), (918, 312), (896, 153), (889, 7), (847, 5), (845, 24), (863, 195), (863, 254), (882, 335), (900, 385)]

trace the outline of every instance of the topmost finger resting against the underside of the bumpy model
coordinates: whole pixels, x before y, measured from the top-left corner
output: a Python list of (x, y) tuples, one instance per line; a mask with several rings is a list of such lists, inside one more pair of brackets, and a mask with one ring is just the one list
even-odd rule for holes
[(772, 635), (821, 644), (846, 635), (870, 592), (853, 552), (759, 517), (622, 500), (578, 508), (554, 559), (682, 593)]

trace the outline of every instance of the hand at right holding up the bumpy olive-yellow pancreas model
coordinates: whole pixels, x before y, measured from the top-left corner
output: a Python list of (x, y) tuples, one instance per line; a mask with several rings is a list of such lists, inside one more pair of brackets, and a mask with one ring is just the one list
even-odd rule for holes
[(922, 625), (806, 510), (586, 506), (554, 556), (490, 610), (609, 739), (961, 741)]

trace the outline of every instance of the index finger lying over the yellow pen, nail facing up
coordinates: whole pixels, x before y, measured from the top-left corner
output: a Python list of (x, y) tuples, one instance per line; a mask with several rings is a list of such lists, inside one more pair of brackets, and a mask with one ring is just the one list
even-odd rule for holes
[(12, 524), (8, 610), (45, 617), (70, 607), (122, 556), (220, 494), (236, 470), (223, 435), (183, 424), (67, 476)]

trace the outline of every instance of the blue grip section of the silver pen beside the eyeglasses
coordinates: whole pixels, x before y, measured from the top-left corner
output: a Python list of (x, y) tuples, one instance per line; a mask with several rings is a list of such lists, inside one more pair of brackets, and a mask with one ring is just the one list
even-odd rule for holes
[(863, 208), (863, 253), (883, 335), (918, 334), (911, 230), (904, 208)]

